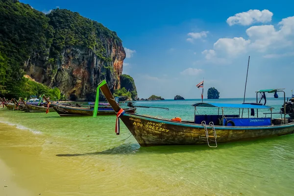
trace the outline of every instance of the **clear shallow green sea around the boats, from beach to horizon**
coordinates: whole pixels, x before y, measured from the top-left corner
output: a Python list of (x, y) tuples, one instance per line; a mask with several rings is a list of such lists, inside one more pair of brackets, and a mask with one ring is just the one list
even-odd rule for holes
[[(138, 108), (139, 114), (193, 120), (191, 105), (197, 101), (138, 101), (135, 104), (170, 108), (170, 111)], [(242, 99), (217, 101), (243, 102)], [(267, 105), (275, 107), (274, 112), (278, 112), (282, 104), (281, 98), (268, 98)], [(200, 114), (218, 112), (214, 108), (197, 111)], [(238, 114), (239, 110), (225, 109), (224, 112)], [(268, 111), (259, 111), (259, 115), (264, 112)], [(53, 112), (1, 109), (0, 123), (6, 125), (0, 128), (0, 158), (6, 160), (7, 165), (15, 166), (17, 173), (22, 173), (22, 177), (17, 178), (21, 185), (49, 196), (287, 196), (294, 193), (294, 135), (220, 144), (217, 148), (207, 145), (140, 147), (123, 123), (121, 135), (115, 135), (115, 119), (115, 116), (59, 117)], [(16, 152), (21, 147), (25, 152)], [(28, 162), (20, 169), (12, 155)], [(31, 165), (34, 169), (29, 167)], [(37, 183), (39, 188), (34, 188), (32, 183)]]

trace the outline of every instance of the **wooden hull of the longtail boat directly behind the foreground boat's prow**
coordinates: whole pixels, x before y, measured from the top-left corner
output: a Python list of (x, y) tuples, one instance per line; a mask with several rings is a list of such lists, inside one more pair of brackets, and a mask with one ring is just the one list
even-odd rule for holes
[[(63, 106), (59, 104), (50, 104), (59, 116), (93, 116), (93, 109), (82, 107)], [(135, 113), (136, 108), (125, 109), (129, 113)], [(111, 107), (98, 108), (97, 115), (116, 115), (116, 112)]]

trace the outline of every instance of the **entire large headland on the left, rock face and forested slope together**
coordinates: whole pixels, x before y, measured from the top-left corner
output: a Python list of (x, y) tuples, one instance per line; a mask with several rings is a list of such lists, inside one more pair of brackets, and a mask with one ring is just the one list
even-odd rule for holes
[(7, 76), (13, 80), (0, 82), (2, 92), (14, 90), (21, 70), (72, 100), (94, 100), (103, 79), (112, 92), (121, 87), (125, 51), (115, 31), (77, 12), (57, 8), (45, 15), (17, 0), (0, 1), (0, 11), (0, 58), (14, 70)]

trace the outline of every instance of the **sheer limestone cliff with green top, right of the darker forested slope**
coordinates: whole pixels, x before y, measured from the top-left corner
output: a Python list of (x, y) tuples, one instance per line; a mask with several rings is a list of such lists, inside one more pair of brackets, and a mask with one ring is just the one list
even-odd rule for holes
[(69, 10), (56, 9), (47, 16), (52, 26), (47, 45), (25, 63), (29, 76), (58, 87), (71, 100), (95, 100), (103, 79), (112, 91), (120, 88), (125, 51), (114, 31)]

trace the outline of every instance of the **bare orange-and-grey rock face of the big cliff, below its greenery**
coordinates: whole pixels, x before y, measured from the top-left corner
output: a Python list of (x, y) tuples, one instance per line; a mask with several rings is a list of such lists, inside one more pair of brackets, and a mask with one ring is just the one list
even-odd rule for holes
[[(105, 79), (111, 90), (120, 88), (125, 52), (121, 45), (107, 41), (111, 62), (100, 59), (87, 48), (68, 48), (62, 51), (60, 61), (45, 67), (48, 56), (32, 55), (25, 72), (37, 82), (58, 87), (71, 100), (95, 100), (98, 83)], [(109, 67), (105, 66), (109, 64)]]

